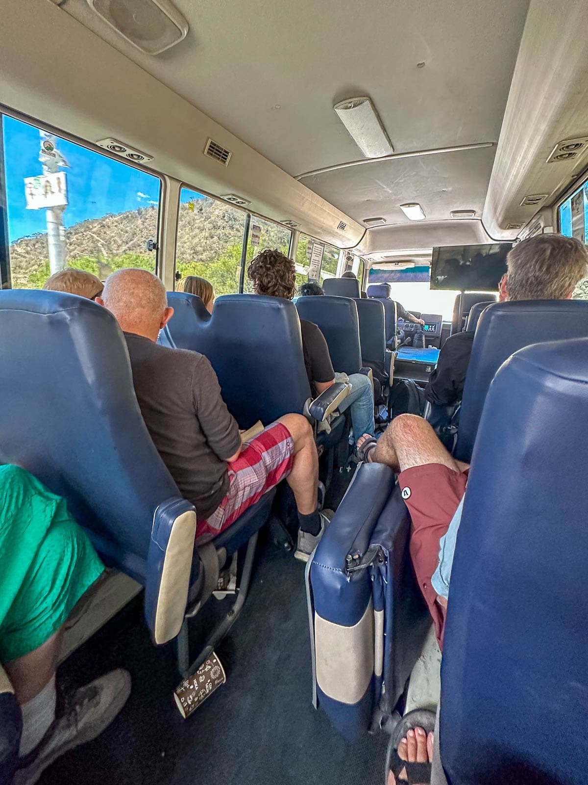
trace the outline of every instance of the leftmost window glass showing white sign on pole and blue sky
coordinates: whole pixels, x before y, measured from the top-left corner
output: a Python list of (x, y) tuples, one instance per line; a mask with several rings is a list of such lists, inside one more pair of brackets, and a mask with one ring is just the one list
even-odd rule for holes
[(14, 288), (63, 267), (156, 272), (159, 177), (6, 115), (2, 136)]

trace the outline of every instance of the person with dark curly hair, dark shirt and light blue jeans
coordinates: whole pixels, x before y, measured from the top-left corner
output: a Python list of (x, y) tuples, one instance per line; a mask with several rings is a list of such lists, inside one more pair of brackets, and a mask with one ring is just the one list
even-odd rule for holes
[[(296, 269), (294, 262), (278, 250), (263, 250), (249, 264), (247, 276), (253, 283), (256, 294), (292, 300), (296, 292)], [(300, 319), (304, 365), (310, 389), (318, 395), (335, 382), (331, 357), (325, 336), (316, 324)], [(374, 399), (372, 382), (364, 374), (351, 374), (350, 395), (339, 406), (339, 411), (350, 409), (354, 439), (363, 433), (376, 432), (374, 422)]]

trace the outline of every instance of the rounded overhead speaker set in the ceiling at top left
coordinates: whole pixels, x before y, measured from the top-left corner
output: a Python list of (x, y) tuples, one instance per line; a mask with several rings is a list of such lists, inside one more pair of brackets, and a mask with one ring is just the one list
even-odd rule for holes
[(169, 0), (87, 0), (113, 30), (146, 54), (186, 38), (188, 23)]

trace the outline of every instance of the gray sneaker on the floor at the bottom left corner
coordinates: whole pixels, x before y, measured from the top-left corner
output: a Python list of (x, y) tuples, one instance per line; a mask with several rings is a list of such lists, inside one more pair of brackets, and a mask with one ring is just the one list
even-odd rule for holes
[(131, 692), (131, 677), (126, 670), (111, 670), (71, 696), (63, 717), (53, 732), (33, 753), (31, 761), (21, 761), (13, 785), (34, 785), (56, 758), (80, 744), (100, 736), (126, 703)]

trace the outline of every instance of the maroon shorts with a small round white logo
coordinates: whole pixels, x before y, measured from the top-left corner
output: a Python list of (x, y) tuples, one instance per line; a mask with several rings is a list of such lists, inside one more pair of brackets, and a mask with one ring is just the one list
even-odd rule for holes
[(439, 541), (447, 532), (456, 509), (466, 492), (467, 474), (455, 472), (441, 463), (413, 466), (398, 475), (402, 498), (408, 507), (411, 524), (410, 555), (430, 615), (435, 623), (437, 641), (443, 639), (445, 612), (437, 603), (431, 576), (439, 563)]

